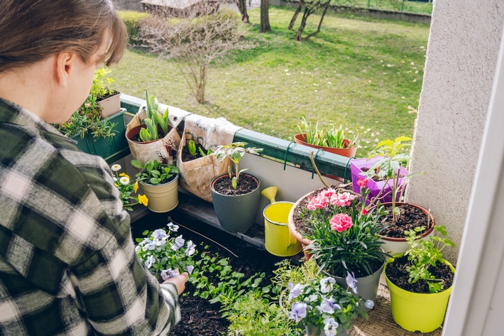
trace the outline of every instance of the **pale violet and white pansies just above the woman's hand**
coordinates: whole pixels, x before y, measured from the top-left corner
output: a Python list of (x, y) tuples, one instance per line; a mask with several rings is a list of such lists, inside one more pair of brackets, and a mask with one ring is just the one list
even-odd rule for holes
[(197, 255), (196, 245), (191, 240), (186, 242), (182, 234), (177, 237), (171, 235), (177, 232), (178, 225), (170, 222), (167, 227), (168, 232), (165, 229), (144, 231), (146, 237), (137, 238), (135, 247), (143, 264), (163, 280), (177, 276), (180, 271), (191, 274), (195, 269), (193, 258)]

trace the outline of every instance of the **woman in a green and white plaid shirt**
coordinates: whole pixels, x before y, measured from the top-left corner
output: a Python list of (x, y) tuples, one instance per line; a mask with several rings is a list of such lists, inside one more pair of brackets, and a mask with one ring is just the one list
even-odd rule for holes
[(0, 36), (0, 334), (168, 334), (187, 273), (155, 281), (105, 161), (48, 124), (119, 62), (124, 23), (110, 0), (1, 0)]

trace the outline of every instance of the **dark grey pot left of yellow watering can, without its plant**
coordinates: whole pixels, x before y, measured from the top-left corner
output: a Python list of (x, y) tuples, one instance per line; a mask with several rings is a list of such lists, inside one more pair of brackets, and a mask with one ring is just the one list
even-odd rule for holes
[(242, 173), (241, 176), (243, 175), (251, 176), (257, 181), (257, 188), (250, 193), (243, 195), (223, 195), (217, 193), (214, 189), (215, 183), (221, 178), (229, 178), (229, 174), (217, 176), (210, 184), (215, 214), (221, 227), (226, 231), (245, 232), (253, 227), (256, 221), (256, 214), (261, 198), (261, 183), (253, 175)]

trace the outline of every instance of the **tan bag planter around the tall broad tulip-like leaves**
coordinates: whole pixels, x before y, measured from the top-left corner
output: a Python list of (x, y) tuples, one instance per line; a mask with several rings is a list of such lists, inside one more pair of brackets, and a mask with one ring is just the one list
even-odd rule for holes
[[(168, 106), (160, 104), (161, 111), (164, 111), (165, 108), (168, 108)], [(142, 164), (150, 160), (157, 160), (170, 165), (175, 164), (173, 153), (175, 153), (180, 146), (180, 136), (177, 133), (177, 124), (180, 123), (182, 118), (172, 118), (171, 112), (172, 109), (170, 109), (170, 123), (172, 124), (170, 126), (172, 127), (163, 139), (149, 142), (131, 141), (131, 136), (138, 134), (138, 128), (144, 124), (143, 119), (146, 119), (147, 116), (146, 105), (142, 104), (140, 109), (138, 109), (136, 116), (130, 121), (128, 126), (126, 126), (126, 139), (128, 139), (128, 145), (133, 158), (136, 158), (136, 160), (140, 161)]]

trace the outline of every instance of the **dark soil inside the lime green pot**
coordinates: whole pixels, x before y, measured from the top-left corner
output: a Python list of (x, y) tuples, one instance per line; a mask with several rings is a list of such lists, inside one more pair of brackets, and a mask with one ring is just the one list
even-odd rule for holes
[[(423, 280), (419, 280), (416, 283), (408, 283), (407, 279), (410, 277), (409, 273), (406, 271), (406, 266), (410, 266), (410, 261), (407, 260), (407, 256), (401, 256), (393, 261), (393, 263), (387, 265), (385, 273), (387, 277), (395, 286), (404, 289), (405, 291), (410, 291), (413, 293), (430, 293), (429, 286)], [(448, 265), (442, 263), (436, 263), (436, 267), (431, 266), (429, 272), (432, 273), (434, 278), (444, 281), (444, 289), (450, 288), (453, 284), (454, 273), (451, 271)]]

